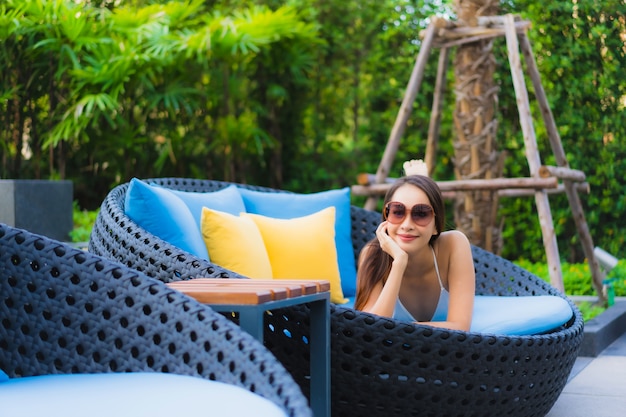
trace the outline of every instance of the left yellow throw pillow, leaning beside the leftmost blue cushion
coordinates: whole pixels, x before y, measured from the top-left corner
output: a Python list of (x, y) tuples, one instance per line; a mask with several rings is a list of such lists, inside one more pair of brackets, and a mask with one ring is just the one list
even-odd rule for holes
[(263, 237), (251, 219), (203, 207), (200, 224), (211, 262), (248, 278), (272, 278)]

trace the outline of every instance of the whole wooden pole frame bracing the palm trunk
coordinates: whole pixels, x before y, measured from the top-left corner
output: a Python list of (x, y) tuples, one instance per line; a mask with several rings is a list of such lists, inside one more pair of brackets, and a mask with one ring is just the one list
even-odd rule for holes
[[(424, 76), (428, 55), (432, 48), (435, 46), (439, 47), (440, 54), (426, 144), (426, 155), (424, 158), (431, 172), (435, 166), (436, 160), (435, 155), (439, 137), (439, 125), (443, 106), (442, 96), (445, 90), (445, 74), (448, 68), (449, 48), (463, 43), (504, 36), (506, 39), (515, 96), (517, 98), (520, 124), (524, 137), (525, 154), (530, 169), (530, 178), (438, 181), (437, 183), (442, 189), (444, 197), (449, 198), (453, 197), (456, 192), (464, 190), (498, 190), (498, 195), (500, 196), (534, 195), (543, 237), (543, 245), (548, 261), (550, 281), (551, 284), (560, 291), (564, 291), (563, 275), (548, 195), (555, 192), (565, 192), (576, 223), (583, 252), (589, 262), (592, 284), (600, 300), (605, 301), (605, 296), (602, 291), (603, 274), (593, 252), (593, 240), (589, 233), (589, 228), (578, 195), (579, 191), (588, 192), (589, 185), (584, 182), (585, 174), (583, 172), (569, 168), (561, 138), (541, 83), (541, 77), (532, 52), (530, 40), (526, 33), (530, 27), (530, 22), (519, 20), (514, 15), (509, 14), (505, 16), (481, 17), (478, 20), (478, 26), (475, 27), (457, 26), (453, 29), (448, 29), (446, 26), (443, 19), (433, 18), (426, 29), (422, 46), (407, 85), (406, 94), (391, 130), (376, 175), (361, 174), (358, 180), (359, 185), (352, 187), (353, 194), (368, 196), (365, 208), (373, 210), (376, 208), (378, 197), (384, 195), (393, 182), (388, 178), (388, 174), (400, 146), (400, 139), (406, 128), (413, 102), (415, 101)], [(541, 164), (537, 138), (530, 112), (528, 90), (522, 69), (520, 49), (524, 56), (528, 76), (532, 80), (535, 96), (541, 110), (541, 116), (548, 133), (550, 146), (557, 162), (556, 167)], [(562, 181), (562, 184), (559, 184), (559, 180)]]

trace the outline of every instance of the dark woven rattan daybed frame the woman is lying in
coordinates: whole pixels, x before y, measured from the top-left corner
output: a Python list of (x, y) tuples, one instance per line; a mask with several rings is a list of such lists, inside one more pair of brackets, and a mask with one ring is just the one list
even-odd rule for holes
[[(162, 178), (171, 189), (209, 192), (230, 183)], [(257, 191), (284, 192), (241, 185)], [(243, 278), (151, 235), (124, 214), (128, 184), (104, 200), (89, 250), (168, 282)], [(380, 214), (351, 207), (355, 259), (374, 236)], [(476, 294), (563, 295), (511, 262), (473, 247)], [(503, 336), (406, 324), (331, 304), (332, 415), (545, 416), (559, 397), (583, 338), (574, 315), (547, 334)], [(308, 314), (290, 308), (266, 316), (265, 345), (308, 393)]]

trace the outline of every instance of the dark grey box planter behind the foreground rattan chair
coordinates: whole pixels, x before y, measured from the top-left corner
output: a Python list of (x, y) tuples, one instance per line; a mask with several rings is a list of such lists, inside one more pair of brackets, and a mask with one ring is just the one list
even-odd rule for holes
[(68, 241), (73, 198), (72, 181), (0, 180), (0, 223)]

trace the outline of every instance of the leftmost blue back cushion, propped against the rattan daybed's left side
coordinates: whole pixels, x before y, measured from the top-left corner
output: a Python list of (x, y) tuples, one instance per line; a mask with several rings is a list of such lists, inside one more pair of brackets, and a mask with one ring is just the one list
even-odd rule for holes
[(126, 193), (124, 211), (153, 235), (208, 259), (198, 224), (183, 200), (170, 190), (133, 178)]

